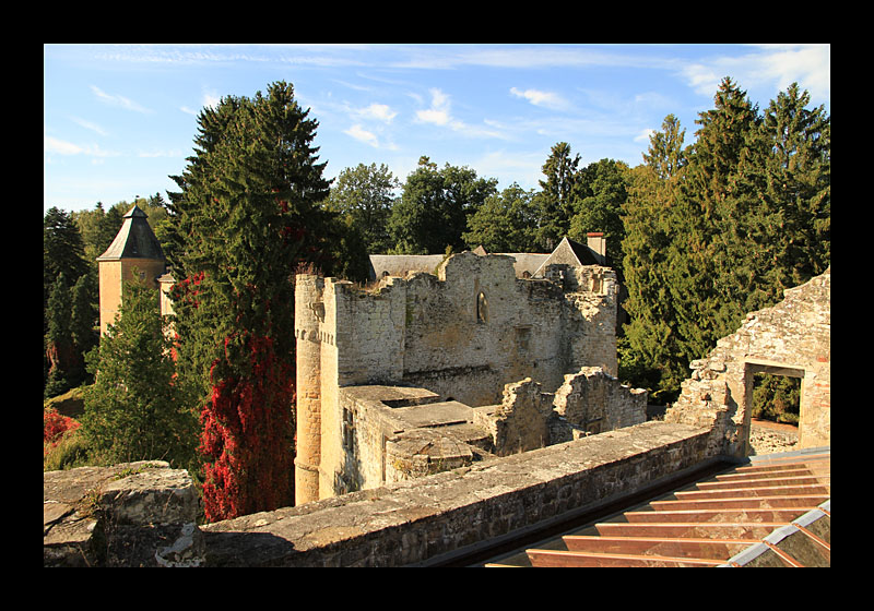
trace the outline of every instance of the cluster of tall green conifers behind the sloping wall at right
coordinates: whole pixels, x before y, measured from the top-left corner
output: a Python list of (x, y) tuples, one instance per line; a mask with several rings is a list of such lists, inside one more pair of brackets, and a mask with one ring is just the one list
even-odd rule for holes
[(669, 116), (624, 206), (626, 370), (671, 395), (747, 312), (829, 264), (830, 123), (792, 85), (765, 115), (731, 79), (697, 141)]

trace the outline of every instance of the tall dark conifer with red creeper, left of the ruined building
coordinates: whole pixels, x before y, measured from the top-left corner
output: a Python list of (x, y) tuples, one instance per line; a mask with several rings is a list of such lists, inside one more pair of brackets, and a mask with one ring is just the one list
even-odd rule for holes
[(200, 148), (170, 194), (178, 360), (203, 405), (210, 520), (293, 502), (294, 274), (330, 269), (336, 253), (308, 115), (286, 83), (223, 98), (201, 112)]

